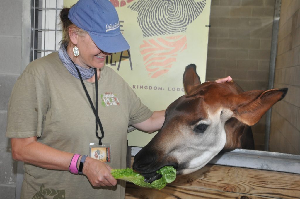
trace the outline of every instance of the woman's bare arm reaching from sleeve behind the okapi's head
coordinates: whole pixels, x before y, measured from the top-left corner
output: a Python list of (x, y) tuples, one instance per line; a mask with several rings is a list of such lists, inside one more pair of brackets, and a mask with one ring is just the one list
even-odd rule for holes
[(145, 132), (155, 132), (159, 129), (161, 129), (161, 127), (164, 124), (165, 121), (165, 111), (166, 110), (162, 110), (162, 111), (154, 111), (152, 116), (149, 117), (149, 119), (141, 122), (141, 123), (137, 123), (137, 124), (133, 124), (132, 126), (134, 126), (135, 128), (145, 131)]

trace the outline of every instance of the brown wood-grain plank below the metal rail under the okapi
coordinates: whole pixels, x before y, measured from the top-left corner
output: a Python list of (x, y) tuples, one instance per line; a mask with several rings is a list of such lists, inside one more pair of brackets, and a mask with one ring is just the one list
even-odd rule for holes
[(125, 198), (300, 198), (300, 175), (206, 165), (162, 190), (127, 183)]

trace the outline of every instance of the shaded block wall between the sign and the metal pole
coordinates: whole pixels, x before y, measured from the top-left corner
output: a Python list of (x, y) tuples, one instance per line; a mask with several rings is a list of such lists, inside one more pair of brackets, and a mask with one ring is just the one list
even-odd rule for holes
[[(268, 88), (275, 0), (212, 0), (206, 80), (230, 75), (245, 91)], [(265, 117), (252, 128), (264, 149)]]

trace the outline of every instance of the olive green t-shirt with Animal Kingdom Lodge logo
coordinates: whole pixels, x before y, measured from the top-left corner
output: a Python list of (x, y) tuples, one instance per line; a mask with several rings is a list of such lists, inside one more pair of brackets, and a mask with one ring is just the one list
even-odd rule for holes
[[(95, 105), (95, 83), (84, 84)], [(126, 168), (128, 125), (147, 120), (152, 111), (107, 66), (101, 69), (98, 96), (98, 115), (105, 134), (102, 142), (111, 145), (111, 162), (106, 164)], [(99, 141), (95, 115), (81, 82), (64, 67), (57, 52), (31, 62), (17, 79), (8, 104), (6, 136), (37, 136), (39, 142), (50, 147), (82, 155), (89, 155), (89, 143)], [(125, 195), (124, 181), (113, 187), (95, 188), (85, 176), (68, 171), (28, 163), (24, 171), (21, 198), (119, 199)]]

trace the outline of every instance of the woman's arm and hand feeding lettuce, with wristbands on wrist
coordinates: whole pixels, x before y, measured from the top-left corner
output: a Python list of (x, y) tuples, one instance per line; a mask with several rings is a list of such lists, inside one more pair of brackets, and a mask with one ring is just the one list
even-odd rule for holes
[[(38, 142), (37, 137), (10, 138), (10, 141), (14, 160), (27, 162), (45, 169), (69, 171), (73, 153), (42, 144)], [(81, 157), (78, 165), (80, 159)], [(117, 184), (117, 180), (110, 174), (110, 170), (111, 168), (105, 163), (87, 157), (82, 172), (93, 186), (114, 186)]]

